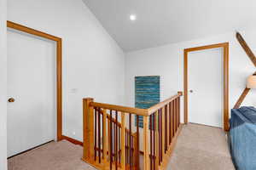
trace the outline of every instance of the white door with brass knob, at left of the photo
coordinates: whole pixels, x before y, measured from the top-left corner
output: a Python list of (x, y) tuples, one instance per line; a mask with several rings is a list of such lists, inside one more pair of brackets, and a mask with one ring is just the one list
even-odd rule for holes
[(8, 156), (55, 139), (55, 42), (8, 30)]

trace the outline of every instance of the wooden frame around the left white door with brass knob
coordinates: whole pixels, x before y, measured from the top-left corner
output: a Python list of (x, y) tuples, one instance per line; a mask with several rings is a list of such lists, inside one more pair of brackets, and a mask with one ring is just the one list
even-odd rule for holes
[(37, 31), (32, 28), (21, 26), (11, 21), (7, 21), (7, 27), (15, 29), (17, 31), (26, 32), (28, 34), (43, 37), (45, 39), (56, 42), (56, 98), (57, 98), (57, 141), (62, 139), (62, 40), (60, 37), (55, 37), (44, 33), (43, 31)]

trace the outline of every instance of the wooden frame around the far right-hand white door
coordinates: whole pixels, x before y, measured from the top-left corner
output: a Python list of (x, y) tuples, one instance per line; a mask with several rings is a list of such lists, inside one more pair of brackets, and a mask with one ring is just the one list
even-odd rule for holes
[(183, 109), (184, 123), (188, 123), (188, 54), (192, 51), (200, 51), (211, 48), (224, 48), (224, 130), (229, 131), (229, 42), (184, 49), (184, 73), (183, 73)]

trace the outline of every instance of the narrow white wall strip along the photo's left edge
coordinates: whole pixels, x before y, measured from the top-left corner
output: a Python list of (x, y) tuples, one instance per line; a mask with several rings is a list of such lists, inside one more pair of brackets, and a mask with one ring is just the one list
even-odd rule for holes
[(6, 159), (6, 0), (0, 1), (0, 169), (7, 169)]

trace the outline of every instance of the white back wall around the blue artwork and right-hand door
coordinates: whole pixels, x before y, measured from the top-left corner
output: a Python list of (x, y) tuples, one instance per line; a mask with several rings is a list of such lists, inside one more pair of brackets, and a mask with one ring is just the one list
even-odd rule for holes
[[(256, 31), (246, 30), (240, 32), (254, 54), (256, 54)], [(230, 108), (233, 108), (242, 90), (246, 87), (247, 76), (255, 71), (253, 63), (247, 58), (247, 54), (245, 54), (239, 42), (236, 41), (235, 32), (189, 42), (168, 44), (159, 48), (143, 49), (126, 54), (126, 105), (134, 105), (134, 77), (136, 76), (161, 76), (161, 100), (170, 97), (172, 94), (177, 93), (177, 91), (183, 91), (183, 48), (219, 42), (230, 42)], [(252, 90), (247, 95), (243, 105), (256, 106), (255, 93), (256, 90)]]

